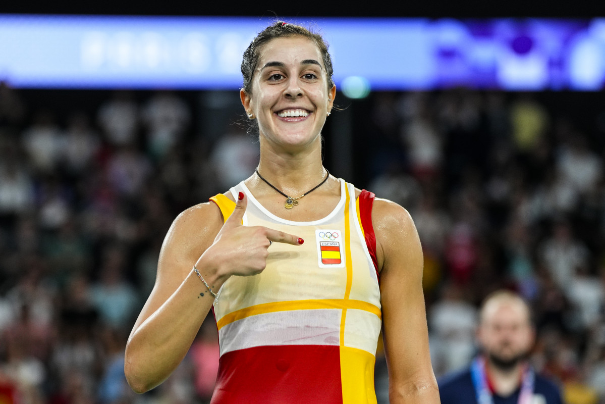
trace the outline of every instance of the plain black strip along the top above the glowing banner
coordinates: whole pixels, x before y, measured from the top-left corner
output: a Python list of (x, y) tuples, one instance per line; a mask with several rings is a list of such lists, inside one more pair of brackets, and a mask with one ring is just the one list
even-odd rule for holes
[[(255, 2), (143, 0), (5, 0), (0, 13), (263, 17), (564, 17), (590, 18), (605, 14), (600, 2), (508, 1), (383, 1), (376, 2)], [(372, 4), (371, 6), (368, 4)], [(601, 6), (602, 7), (602, 6)]]

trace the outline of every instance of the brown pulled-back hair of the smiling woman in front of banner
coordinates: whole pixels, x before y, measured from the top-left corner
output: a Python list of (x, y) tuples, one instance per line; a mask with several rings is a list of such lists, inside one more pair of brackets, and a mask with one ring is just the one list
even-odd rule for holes
[(324, 38), (300, 25), (278, 21), (261, 31), (256, 38), (252, 39), (252, 42), (250, 42), (250, 45), (246, 51), (244, 51), (244, 58), (241, 61), (241, 75), (244, 76), (243, 89), (247, 94), (252, 94), (252, 76), (254, 75), (254, 70), (257, 68), (258, 59), (260, 58), (263, 46), (272, 39), (290, 38), (292, 36), (307, 38), (319, 48), (319, 52), (321, 53), (324, 62), (325, 73), (328, 78), (328, 89), (334, 86), (334, 81), (332, 79), (334, 73), (332, 57), (328, 52), (328, 45), (325, 43)]

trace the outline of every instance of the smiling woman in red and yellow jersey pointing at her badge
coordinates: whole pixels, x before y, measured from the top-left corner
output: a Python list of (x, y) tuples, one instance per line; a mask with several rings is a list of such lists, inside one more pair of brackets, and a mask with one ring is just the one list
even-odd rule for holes
[(126, 346), (128, 382), (144, 392), (165, 380), (214, 306), (212, 403), (376, 403), (381, 329), (391, 403), (438, 403), (413, 221), (322, 165), (336, 95), (327, 45), (277, 22), (241, 70), (260, 164), (174, 220)]

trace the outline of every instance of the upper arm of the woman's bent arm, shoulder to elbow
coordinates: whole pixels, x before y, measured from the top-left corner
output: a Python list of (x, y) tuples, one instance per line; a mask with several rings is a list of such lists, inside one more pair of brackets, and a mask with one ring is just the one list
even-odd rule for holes
[(213, 202), (195, 205), (174, 219), (162, 243), (154, 288), (132, 333), (172, 296), (201, 254), (212, 245), (222, 225), (223, 216)]

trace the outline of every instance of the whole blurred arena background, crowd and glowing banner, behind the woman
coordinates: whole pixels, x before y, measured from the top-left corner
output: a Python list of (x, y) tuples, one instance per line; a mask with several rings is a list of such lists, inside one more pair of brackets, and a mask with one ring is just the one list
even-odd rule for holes
[[(414, 217), (437, 376), (468, 364), (477, 304), (506, 287), (534, 307), (535, 366), (569, 404), (605, 402), (604, 19), (115, 3), (0, 8), (0, 403), (208, 402), (212, 319), (142, 396), (123, 348), (172, 219), (258, 162), (238, 68), (275, 14), (330, 42), (326, 167)], [(385, 376), (379, 349), (380, 403)]]

